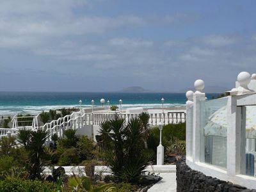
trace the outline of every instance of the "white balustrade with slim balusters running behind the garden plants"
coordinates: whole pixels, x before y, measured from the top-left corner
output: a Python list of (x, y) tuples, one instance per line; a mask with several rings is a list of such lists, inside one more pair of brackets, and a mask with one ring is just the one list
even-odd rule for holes
[[(66, 115), (64, 117), (58, 118), (58, 120), (52, 120), (49, 123), (44, 124), (43, 126), (38, 125), (38, 116), (34, 116), (33, 123), (31, 127), (32, 130), (36, 130), (38, 128), (49, 131), (50, 137), (53, 134), (57, 134), (58, 137), (63, 136), (63, 131), (65, 129), (86, 129), (84, 125), (100, 125), (102, 122), (106, 120), (113, 120), (115, 116), (119, 118), (125, 118), (126, 121), (129, 121), (131, 118), (138, 117), (138, 113), (134, 114), (126, 114), (126, 113), (84, 113), (83, 110), (79, 112), (73, 112), (71, 115)], [(159, 123), (163, 124), (177, 124), (179, 122), (186, 121), (186, 113), (184, 112), (168, 112), (168, 113), (149, 113), (148, 124), (150, 126), (156, 126)], [(13, 129), (4, 129), (3, 132), (0, 131), (1, 136), (7, 136), (7, 132), (12, 130), (12, 134), (17, 133), (17, 115), (13, 117)]]

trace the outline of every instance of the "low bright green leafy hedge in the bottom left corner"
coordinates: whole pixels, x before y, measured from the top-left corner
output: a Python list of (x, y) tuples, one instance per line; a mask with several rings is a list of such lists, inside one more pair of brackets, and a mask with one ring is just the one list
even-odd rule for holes
[(39, 180), (24, 180), (24, 179), (14, 179), (7, 178), (0, 180), (0, 191), (9, 192), (9, 191), (19, 191), (19, 192), (28, 192), (28, 191), (38, 191), (38, 192), (50, 192), (56, 191), (56, 186), (52, 182), (42, 182)]

